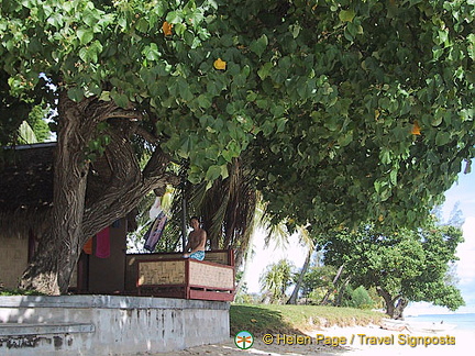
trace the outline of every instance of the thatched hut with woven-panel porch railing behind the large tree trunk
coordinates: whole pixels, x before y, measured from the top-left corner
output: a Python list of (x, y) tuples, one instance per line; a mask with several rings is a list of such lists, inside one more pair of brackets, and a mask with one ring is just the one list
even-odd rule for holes
[[(4, 148), (0, 163), (0, 283), (15, 288), (38, 238), (52, 221), (55, 143)], [(87, 196), (107, 183), (107, 159), (89, 173)], [(98, 256), (92, 237), (77, 264), (69, 289), (77, 293), (125, 293), (231, 301), (234, 298), (232, 251), (207, 252), (205, 262), (180, 253), (126, 255), (126, 234), (136, 229), (134, 214), (108, 227), (109, 253)]]

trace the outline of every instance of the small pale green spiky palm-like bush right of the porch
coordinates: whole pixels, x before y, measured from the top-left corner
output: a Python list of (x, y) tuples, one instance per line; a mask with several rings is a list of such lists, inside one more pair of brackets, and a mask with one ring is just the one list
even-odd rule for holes
[(267, 266), (259, 278), (261, 291), (270, 303), (280, 303), (286, 298), (286, 290), (291, 285), (292, 265), (287, 259)]

